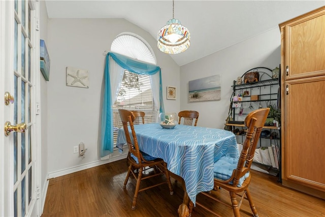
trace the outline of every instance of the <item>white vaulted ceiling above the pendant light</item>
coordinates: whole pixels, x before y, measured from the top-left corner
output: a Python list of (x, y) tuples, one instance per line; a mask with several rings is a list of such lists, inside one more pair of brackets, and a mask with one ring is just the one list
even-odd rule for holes
[[(232, 46), (278, 24), (325, 5), (321, 1), (175, 0), (174, 18), (186, 26), (191, 45), (171, 57), (179, 66)], [(48, 1), (49, 18), (124, 18), (156, 38), (173, 16), (172, 0)], [(154, 49), (154, 48), (153, 48)], [(166, 54), (168, 55), (168, 54)]]

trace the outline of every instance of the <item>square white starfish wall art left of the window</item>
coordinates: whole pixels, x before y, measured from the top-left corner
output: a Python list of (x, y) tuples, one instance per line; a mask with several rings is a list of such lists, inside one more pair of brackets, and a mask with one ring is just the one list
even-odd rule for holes
[(88, 70), (67, 67), (67, 86), (89, 87)]

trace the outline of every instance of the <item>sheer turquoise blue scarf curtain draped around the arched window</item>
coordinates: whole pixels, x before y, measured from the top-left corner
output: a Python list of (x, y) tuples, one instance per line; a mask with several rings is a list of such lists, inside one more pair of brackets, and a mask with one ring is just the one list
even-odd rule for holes
[[(102, 142), (101, 142), (101, 158), (107, 156), (113, 152), (114, 141), (113, 141), (113, 110), (112, 105), (112, 90), (110, 81), (110, 67), (109, 67), (109, 57), (123, 69), (140, 75), (153, 76), (159, 73), (159, 101), (160, 101), (160, 112), (164, 112), (164, 102), (163, 102), (163, 90), (161, 85), (161, 70), (160, 67), (144, 63), (142, 61), (118, 54), (109, 52), (106, 56), (105, 65), (105, 88), (103, 96), (103, 110), (102, 110)], [(152, 83), (151, 83), (152, 84)], [(114, 99), (115, 100), (115, 99)]]

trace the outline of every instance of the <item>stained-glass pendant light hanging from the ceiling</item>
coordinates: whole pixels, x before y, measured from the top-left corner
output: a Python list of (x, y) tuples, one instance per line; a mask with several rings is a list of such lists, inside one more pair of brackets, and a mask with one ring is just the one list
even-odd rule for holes
[(187, 50), (190, 45), (190, 34), (188, 29), (181, 24), (178, 19), (174, 19), (174, 0), (173, 0), (173, 19), (167, 21), (167, 25), (160, 28), (158, 32), (157, 47), (161, 52), (176, 54)]

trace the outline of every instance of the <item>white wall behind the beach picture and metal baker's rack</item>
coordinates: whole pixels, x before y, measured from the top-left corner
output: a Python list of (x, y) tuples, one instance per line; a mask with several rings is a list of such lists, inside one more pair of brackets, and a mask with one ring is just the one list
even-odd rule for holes
[[(255, 67), (274, 69), (280, 64), (280, 30), (273, 28), (246, 41), (181, 67), (180, 108), (199, 111), (198, 126), (223, 129), (228, 116), (233, 81)], [(188, 81), (220, 75), (221, 100), (188, 102)]]

